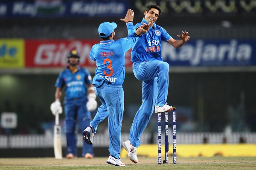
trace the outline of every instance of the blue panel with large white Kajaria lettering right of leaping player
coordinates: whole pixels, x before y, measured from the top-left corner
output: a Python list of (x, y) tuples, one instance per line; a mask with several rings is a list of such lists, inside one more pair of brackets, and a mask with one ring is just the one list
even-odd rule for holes
[(256, 40), (189, 40), (179, 49), (163, 42), (162, 57), (173, 66), (252, 66)]

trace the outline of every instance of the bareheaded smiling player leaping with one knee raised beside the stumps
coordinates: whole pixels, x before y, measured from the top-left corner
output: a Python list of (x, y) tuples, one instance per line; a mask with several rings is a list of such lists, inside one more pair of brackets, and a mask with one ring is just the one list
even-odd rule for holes
[[(189, 33), (177, 35), (180, 40), (173, 39), (167, 31), (155, 24), (162, 10), (157, 5), (149, 5), (144, 12), (145, 17), (134, 28), (140, 28), (143, 23), (151, 23), (149, 30), (136, 40), (131, 52), (133, 71), (137, 79), (143, 82), (142, 105), (137, 111), (131, 125), (130, 139), (123, 142), (128, 157), (134, 163), (138, 162), (137, 147), (140, 146), (140, 136), (148, 125), (152, 113), (172, 111), (172, 106), (166, 102), (169, 84), (169, 64), (163, 62), (161, 41), (168, 42), (174, 48), (180, 48), (189, 40)], [(129, 32), (133, 34), (133, 32)]]

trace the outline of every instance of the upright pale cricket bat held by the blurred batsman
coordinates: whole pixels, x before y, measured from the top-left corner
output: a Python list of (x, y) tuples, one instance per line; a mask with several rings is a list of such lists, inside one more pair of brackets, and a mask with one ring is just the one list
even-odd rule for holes
[(58, 113), (58, 111), (55, 114), (53, 147), (54, 147), (55, 159), (62, 159), (61, 126), (59, 125), (59, 113)]

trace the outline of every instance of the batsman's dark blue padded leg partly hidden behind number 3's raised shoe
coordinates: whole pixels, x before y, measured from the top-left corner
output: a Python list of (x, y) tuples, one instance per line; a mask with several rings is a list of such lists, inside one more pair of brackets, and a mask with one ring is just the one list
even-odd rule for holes
[[(91, 114), (90, 111), (87, 110), (86, 107), (86, 102), (81, 101), (81, 103), (78, 103), (78, 120), (81, 128), (81, 134), (84, 136), (83, 131), (86, 127), (90, 125), (91, 121)], [(83, 148), (82, 148), (82, 156), (86, 158), (93, 158), (94, 153), (93, 153), (93, 145), (89, 145), (87, 143), (83, 143)]]

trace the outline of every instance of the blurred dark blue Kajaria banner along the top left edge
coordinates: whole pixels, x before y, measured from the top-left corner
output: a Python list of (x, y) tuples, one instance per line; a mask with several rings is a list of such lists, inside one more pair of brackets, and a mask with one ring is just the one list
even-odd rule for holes
[(0, 17), (123, 17), (125, 0), (0, 0)]

